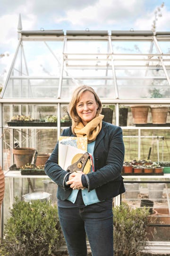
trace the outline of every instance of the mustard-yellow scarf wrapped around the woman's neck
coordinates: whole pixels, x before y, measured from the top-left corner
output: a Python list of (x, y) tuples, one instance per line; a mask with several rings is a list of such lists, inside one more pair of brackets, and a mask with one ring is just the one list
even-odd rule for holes
[(79, 122), (78, 125), (74, 128), (76, 137), (87, 137), (88, 143), (93, 142), (99, 132), (102, 129), (102, 119), (103, 115), (99, 114), (98, 117), (92, 119), (86, 126), (82, 122)]

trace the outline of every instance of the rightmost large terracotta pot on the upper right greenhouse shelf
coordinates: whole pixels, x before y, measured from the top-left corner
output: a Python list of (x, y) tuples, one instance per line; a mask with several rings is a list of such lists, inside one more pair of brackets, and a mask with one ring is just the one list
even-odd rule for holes
[(153, 124), (166, 124), (168, 110), (169, 110), (168, 107), (163, 107), (163, 106), (151, 107)]

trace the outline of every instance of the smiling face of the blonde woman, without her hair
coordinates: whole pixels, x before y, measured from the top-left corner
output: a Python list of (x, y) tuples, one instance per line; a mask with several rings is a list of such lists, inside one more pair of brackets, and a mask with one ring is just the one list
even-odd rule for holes
[(84, 125), (95, 118), (97, 109), (98, 104), (95, 101), (93, 92), (84, 91), (76, 104), (76, 112)]

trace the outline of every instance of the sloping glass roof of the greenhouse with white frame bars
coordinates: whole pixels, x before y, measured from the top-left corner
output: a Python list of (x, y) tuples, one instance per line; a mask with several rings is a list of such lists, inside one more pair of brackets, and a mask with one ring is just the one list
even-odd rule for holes
[(70, 99), (82, 84), (102, 99), (170, 99), (170, 32), (18, 26), (18, 38), (1, 99)]

